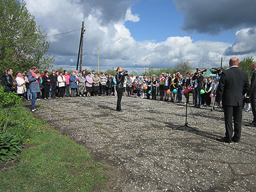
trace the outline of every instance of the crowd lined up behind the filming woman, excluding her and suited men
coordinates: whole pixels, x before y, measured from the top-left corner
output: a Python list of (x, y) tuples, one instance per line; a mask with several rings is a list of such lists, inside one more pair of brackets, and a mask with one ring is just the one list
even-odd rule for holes
[[(32, 70), (30, 70), (32, 71)], [(13, 71), (8, 68), (2, 75), (2, 84), (6, 92), (17, 92), (19, 96), (26, 100), (32, 100), (32, 92), (29, 88), (29, 72), (17, 71), (13, 77)], [(45, 71), (40, 74), (35, 71), (34, 76), (38, 76), (40, 90), (37, 90), (36, 98), (55, 99), (56, 97), (91, 97), (91, 96), (116, 96), (116, 77), (112, 74), (87, 72), (83, 70), (69, 74), (67, 71)], [(124, 77), (124, 96), (133, 96), (140, 99), (156, 100), (160, 96), (160, 101), (182, 102), (183, 95), (186, 102), (189, 102), (189, 95), (193, 95), (195, 107), (200, 105), (210, 106), (211, 98), (218, 87), (220, 75), (214, 80), (211, 77), (205, 78), (200, 70), (193, 75), (186, 73), (186, 77), (180, 72), (170, 75), (169, 72), (159, 76), (142, 78), (134, 74)], [(191, 94), (189, 94), (191, 93)]]

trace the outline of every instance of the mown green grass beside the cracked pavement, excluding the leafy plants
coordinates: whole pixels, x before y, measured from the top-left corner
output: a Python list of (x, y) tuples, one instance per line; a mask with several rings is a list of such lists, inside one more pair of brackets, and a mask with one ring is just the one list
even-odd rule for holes
[[(25, 115), (26, 114), (26, 115)], [(108, 182), (105, 167), (92, 161), (90, 151), (76, 144), (28, 111), (29, 139), (17, 165), (0, 170), (1, 191), (101, 191)], [(20, 120), (19, 120), (20, 122)]]

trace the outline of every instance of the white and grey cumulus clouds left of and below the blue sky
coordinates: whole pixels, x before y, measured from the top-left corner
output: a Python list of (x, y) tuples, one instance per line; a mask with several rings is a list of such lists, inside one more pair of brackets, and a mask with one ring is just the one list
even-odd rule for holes
[(189, 60), (193, 67), (218, 67), (221, 57), (224, 57), (224, 63), (228, 63), (235, 53), (242, 53), (242, 57), (247, 56), (245, 52), (255, 52), (256, 35), (253, 29), (238, 31), (234, 45), (211, 41), (194, 42), (189, 36), (169, 37), (163, 42), (135, 41), (125, 22), (140, 22), (139, 15), (131, 12), (132, 3), (136, 1), (25, 1), (29, 12), (35, 15), (37, 24), (48, 35), (73, 31), (48, 38), (49, 53), (56, 55), (54, 68), (76, 69), (82, 21), (86, 29), (82, 68), (87, 70), (97, 70), (98, 48), (101, 71), (123, 66), (136, 72), (145, 71), (145, 65), (154, 68), (174, 67), (182, 60)]

